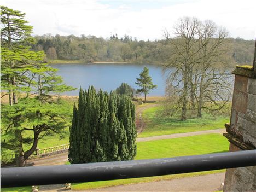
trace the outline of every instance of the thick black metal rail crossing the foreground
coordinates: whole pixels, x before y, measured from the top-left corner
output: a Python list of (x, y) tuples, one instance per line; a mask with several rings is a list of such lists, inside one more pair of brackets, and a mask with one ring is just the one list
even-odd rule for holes
[(1, 168), (1, 188), (161, 176), (256, 165), (256, 150), (90, 164)]

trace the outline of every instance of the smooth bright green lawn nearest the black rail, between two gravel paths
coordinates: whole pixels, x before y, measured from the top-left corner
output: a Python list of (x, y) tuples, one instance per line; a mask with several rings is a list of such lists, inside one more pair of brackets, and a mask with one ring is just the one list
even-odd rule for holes
[[(137, 142), (137, 155), (138, 159), (153, 159), (153, 158), (170, 158), (174, 156), (186, 155), (201, 155), (210, 153), (226, 152), (229, 148), (228, 140), (219, 134), (207, 134), (182, 138), (164, 139), (157, 141)], [(89, 189), (100, 188), (113, 185), (142, 183), (150, 181), (159, 181), (163, 179), (181, 178), (196, 176), (202, 174), (210, 174), (217, 172), (224, 172), (225, 170), (205, 171), (197, 173), (175, 174), (170, 176), (158, 176), (147, 178), (134, 178), (134, 179), (119, 179), (114, 181), (102, 182), (88, 182), (72, 184), (72, 189)], [(17, 188), (1, 189), (1, 191), (27, 191), (31, 188)]]

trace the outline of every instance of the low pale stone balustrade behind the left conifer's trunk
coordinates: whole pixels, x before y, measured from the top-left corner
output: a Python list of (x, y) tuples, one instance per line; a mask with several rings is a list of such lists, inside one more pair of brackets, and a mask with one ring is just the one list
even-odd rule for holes
[[(35, 159), (43, 156), (65, 153), (68, 151), (68, 149), (69, 149), (69, 143), (62, 144), (61, 146), (48, 147), (43, 149), (37, 148), (36, 151), (28, 159)], [(14, 161), (15, 161), (15, 154), (1, 155), (1, 165), (6, 165)]]

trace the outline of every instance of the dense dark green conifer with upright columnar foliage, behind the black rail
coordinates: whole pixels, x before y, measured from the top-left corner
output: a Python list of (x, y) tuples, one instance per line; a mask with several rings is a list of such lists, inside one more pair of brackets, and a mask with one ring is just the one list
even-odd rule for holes
[(135, 107), (128, 96), (80, 89), (74, 106), (69, 162), (131, 160), (136, 155)]

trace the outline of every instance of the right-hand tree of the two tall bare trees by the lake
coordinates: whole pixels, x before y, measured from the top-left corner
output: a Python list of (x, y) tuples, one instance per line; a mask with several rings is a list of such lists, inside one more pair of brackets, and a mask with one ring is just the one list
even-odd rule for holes
[(199, 36), (202, 49), (196, 59), (197, 117), (202, 117), (202, 108), (222, 109), (230, 99), (230, 72), (225, 61), (227, 37), (224, 28), (210, 20), (203, 22)]

